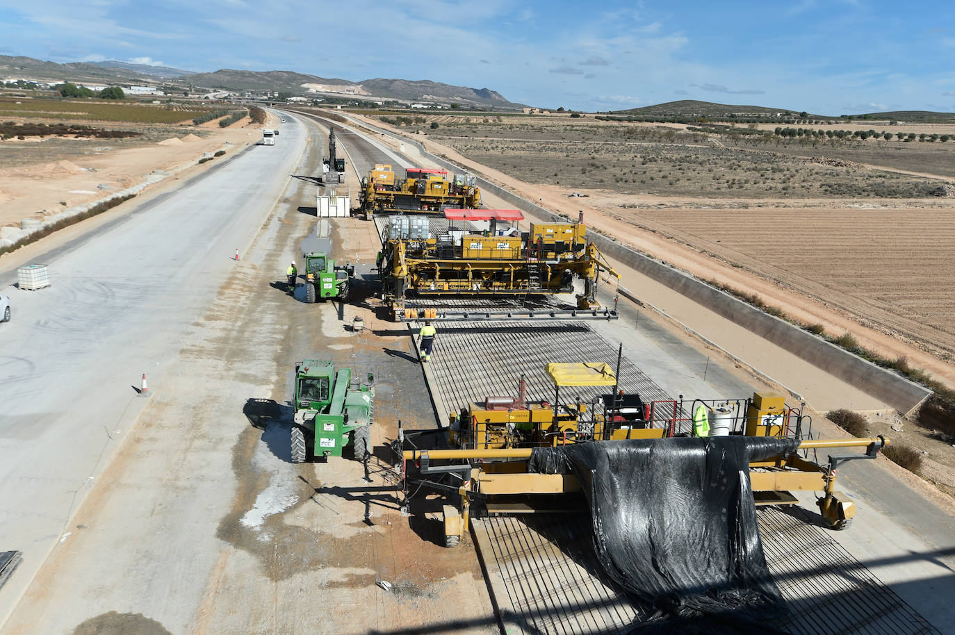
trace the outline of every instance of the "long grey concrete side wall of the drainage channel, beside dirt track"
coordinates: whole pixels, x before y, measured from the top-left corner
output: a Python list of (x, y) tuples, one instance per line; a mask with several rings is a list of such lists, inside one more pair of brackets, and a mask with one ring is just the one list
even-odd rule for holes
[[(352, 119), (352, 122), (355, 125), (370, 127), (377, 132), (398, 139), (402, 143), (414, 146), (423, 157), (435, 161), (447, 170), (454, 172), (464, 169), (427, 152), (424, 145), (418, 141), (400, 137), (391, 131), (371, 126), (364, 121), (357, 122)], [(553, 222), (566, 221), (540, 205), (527, 201), (486, 179), (477, 177), (477, 181), (482, 189), (510, 202), (525, 212), (550, 219)], [(732, 320), (732, 322), (747, 328), (767, 341), (791, 350), (817, 368), (857, 386), (862, 392), (879, 397), (885, 404), (899, 413), (907, 415), (915, 412), (932, 393), (923, 386), (911, 382), (891, 370), (882, 369), (847, 350), (830, 344), (817, 335), (751, 307), (724, 291), (713, 288), (683, 271), (649, 258), (626, 245), (616, 243), (595, 233), (588, 233), (588, 238), (608, 257), (632, 267), (658, 283), (668, 286), (697, 304), (709, 308), (721, 317)]]

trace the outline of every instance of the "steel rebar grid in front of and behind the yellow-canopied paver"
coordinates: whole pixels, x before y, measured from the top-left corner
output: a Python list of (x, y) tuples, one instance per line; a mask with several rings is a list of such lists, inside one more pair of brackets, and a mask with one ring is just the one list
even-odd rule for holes
[[(425, 375), (435, 404), (448, 409), (516, 394), (521, 372), (528, 400), (549, 400), (545, 363), (614, 365), (616, 354), (589, 324), (442, 323)], [(625, 391), (647, 401), (671, 398), (626, 358), (620, 376)], [(605, 389), (571, 391), (561, 400), (589, 401), (596, 392)], [(804, 511), (761, 507), (757, 515), (766, 560), (791, 610), (768, 626), (794, 635), (939, 633)], [(641, 619), (597, 560), (586, 514), (473, 519), (472, 528), (508, 633), (623, 633)]]

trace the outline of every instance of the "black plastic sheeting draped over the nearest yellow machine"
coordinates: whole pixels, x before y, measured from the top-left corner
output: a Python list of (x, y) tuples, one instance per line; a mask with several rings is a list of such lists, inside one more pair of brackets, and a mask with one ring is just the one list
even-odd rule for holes
[(599, 560), (652, 614), (636, 632), (765, 633), (785, 607), (749, 464), (797, 447), (747, 436), (598, 441), (535, 448), (528, 467), (581, 480)]

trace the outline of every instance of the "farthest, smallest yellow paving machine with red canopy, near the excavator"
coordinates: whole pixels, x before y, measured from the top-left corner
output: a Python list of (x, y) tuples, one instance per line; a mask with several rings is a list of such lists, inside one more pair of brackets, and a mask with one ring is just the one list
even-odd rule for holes
[(392, 166), (377, 163), (361, 183), (361, 210), (371, 214), (440, 214), (449, 207), (480, 207), (480, 188), (470, 174), (449, 178), (446, 170), (408, 168), (399, 179)]

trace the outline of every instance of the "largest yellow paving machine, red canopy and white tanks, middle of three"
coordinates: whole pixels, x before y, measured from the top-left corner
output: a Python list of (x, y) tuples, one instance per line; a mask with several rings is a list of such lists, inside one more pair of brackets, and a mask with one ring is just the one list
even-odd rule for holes
[(596, 300), (601, 273), (619, 278), (580, 222), (532, 222), (516, 209), (446, 209), (446, 222), (433, 227), (423, 216), (392, 216), (382, 230), (379, 272), (382, 299), (393, 318), (403, 320), (526, 319), (507, 310), (406, 307), (406, 299), (510, 298), (573, 293), (582, 280), (576, 307), (545, 310), (554, 318), (615, 318)]

